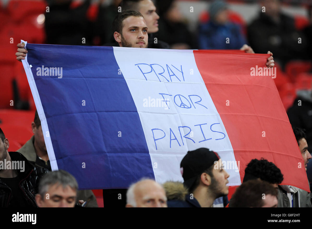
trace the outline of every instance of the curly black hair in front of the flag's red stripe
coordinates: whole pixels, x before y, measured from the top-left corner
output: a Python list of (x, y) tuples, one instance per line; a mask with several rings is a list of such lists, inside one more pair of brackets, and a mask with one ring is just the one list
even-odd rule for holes
[(249, 162), (245, 169), (243, 182), (257, 178), (265, 180), (271, 184), (280, 184), (284, 180), (280, 169), (274, 165), (273, 162), (269, 162), (264, 158), (261, 158), (261, 160), (252, 159)]

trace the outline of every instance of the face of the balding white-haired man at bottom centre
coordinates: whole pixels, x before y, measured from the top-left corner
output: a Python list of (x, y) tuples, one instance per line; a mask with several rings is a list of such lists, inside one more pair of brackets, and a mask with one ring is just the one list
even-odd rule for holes
[(167, 208), (165, 190), (155, 181), (146, 180), (137, 184), (134, 196), (138, 208)]

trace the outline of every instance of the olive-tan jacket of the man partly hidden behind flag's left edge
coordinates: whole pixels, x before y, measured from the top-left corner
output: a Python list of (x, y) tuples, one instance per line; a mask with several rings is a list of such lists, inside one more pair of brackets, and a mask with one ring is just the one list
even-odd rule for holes
[[(20, 152), (22, 155), (24, 155), (31, 165), (39, 167), (39, 168), (48, 169), (48, 165), (50, 163), (47, 163), (46, 167), (43, 167), (36, 163), (36, 161), (41, 160), (41, 159), (37, 159), (37, 154), (34, 148), (34, 141), (35, 141), (35, 136), (33, 135), (31, 139), (29, 139), (22, 146), (22, 148), (20, 148), (17, 151)], [(96, 202), (96, 198), (92, 190), (78, 190), (76, 203), (79, 203), (79, 200), (87, 201), (89, 198), (90, 198), (90, 202), (88, 203), (87, 208), (98, 208), (98, 204)]]

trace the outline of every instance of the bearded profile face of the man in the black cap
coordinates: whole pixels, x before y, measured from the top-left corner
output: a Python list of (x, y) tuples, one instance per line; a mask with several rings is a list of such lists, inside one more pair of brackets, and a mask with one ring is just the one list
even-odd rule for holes
[(226, 185), (229, 183), (227, 178), (229, 174), (222, 167), (222, 160), (218, 160), (217, 164), (212, 169), (213, 177), (211, 178), (211, 185), (209, 185), (210, 191), (217, 194), (217, 198), (229, 194), (229, 187)]

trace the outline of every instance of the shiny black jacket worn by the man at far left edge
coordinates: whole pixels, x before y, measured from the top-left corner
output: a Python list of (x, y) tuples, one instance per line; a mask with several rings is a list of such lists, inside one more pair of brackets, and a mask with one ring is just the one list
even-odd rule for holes
[[(40, 178), (48, 172), (47, 169), (32, 166), (27, 159), (19, 152), (9, 152), (12, 161), (25, 161), (24, 172), (18, 171), (21, 178), (19, 188), (22, 189), (25, 199), (33, 207), (37, 207), (35, 196), (38, 193)], [(0, 178), (0, 207), (9, 207), (12, 200), (12, 190)]]

